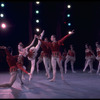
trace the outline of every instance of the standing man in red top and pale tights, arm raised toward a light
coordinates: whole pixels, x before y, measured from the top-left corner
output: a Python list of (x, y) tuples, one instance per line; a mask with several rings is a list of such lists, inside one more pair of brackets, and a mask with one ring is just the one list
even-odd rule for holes
[[(73, 34), (74, 32), (71, 31), (69, 32), (68, 35), (64, 36), (61, 40), (57, 41), (55, 35), (51, 35), (51, 41), (49, 43), (45, 43), (44, 44), (51, 49), (52, 55), (51, 55), (51, 65), (53, 68), (53, 78), (50, 80), (55, 81), (56, 78), (56, 62), (59, 65), (60, 71), (61, 71), (61, 78), (62, 80), (64, 79), (63, 77), (63, 67), (62, 67), (62, 61), (61, 61), (61, 53), (60, 53), (60, 46), (62, 45), (63, 41), (69, 37), (71, 34)], [(42, 41), (40, 39), (40, 41)]]

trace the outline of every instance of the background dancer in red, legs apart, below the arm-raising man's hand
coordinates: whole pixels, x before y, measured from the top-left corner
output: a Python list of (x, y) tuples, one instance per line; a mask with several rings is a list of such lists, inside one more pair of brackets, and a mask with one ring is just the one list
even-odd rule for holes
[(73, 49), (73, 45), (70, 45), (70, 49), (68, 50), (67, 56), (66, 56), (66, 60), (64, 63), (64, 67), (65, 67), (65, 74), (67, 72), (67, 63), (70, 61), (71, 62), (71, 69), (72, 72), (75, 73), (76, 71), (74, 70), (74, 63), (76, 60), (76, 56), (75, 56), (75, 51)]

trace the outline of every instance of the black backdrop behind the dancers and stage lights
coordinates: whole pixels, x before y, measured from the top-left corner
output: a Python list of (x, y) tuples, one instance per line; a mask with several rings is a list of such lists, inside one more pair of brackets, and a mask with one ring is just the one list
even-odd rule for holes
[[(71, 9), (67, 9), (67, 4), (71, 4)], [(35, 14), (37, 8), (40, 11), (39, 15)], [(96, 54), (95, 42), (100, 42), (100, 1), (40, 1), (38, 6), (35, 1), (10, 1), (5, 2), (5, 7), (0, 8), (0, 12), (5, 14), (4, 18), (0, 18), (0, 23), (5, 21), (8, 24), (6, 30), (0, 28), (0, 45), (11, 46), (14, 55), (18, 54), (17, 45), (20, 41), (27, 46), (34, 34), (39, 34), (35, 32), (35, 26), (41, 28), (40, 32), (45, 30), (44, 37), (48, 39), (55, 34), (59, 40), (68, 30), (75, 30), (75, 34), (66, 39), (61, 48), (63, 52), (64, 48), (68, 50), (69, 45), (73, 44), (76, 51), (75, 69), (84, 67), (85, 43), (90, 44)], [(71, 14), (70, 18), (67, 18), (67, 13)], [(32, 19), (29, 23), (30, 17)], [(35, 23), (36, 18), (40, 19), (39, 24)], [(68, 21), (72, 23), (71, 27), (64, 24)], [(5, 52), (3, 50), (0, 52), (0, 71), (6, 71), (9, 67), (5, 60)], [(27, 59), (26, 62), (28, 63)], [(97, 69), (97, 61), (94, 68)]]

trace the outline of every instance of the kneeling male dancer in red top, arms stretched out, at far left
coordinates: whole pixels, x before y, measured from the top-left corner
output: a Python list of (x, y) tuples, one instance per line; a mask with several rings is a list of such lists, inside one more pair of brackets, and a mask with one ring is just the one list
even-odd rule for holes
[(6, 60), (7, 60), (9, 67), (10, 67), (10, 75), (11, 75), (10, 81), (8, 83), (0, 84), (0, 87), (11, 87), (13, 85), (13, 83), (15, 82), (16, 77), (17, 77), (18, 68), (21, 69), (26, 74), (31, 75), (25, 69), (23, 69), (23, 67), (21, 66), (21, 64), (19, 62), (20, 56), (18, 56), (18, 55), (13, 56), (12, 55), (11, 48), (7, 48), (5, 46), (0, 46), (0, 49), (4, 49), (6, 52), (6, 55), (7, 55)]

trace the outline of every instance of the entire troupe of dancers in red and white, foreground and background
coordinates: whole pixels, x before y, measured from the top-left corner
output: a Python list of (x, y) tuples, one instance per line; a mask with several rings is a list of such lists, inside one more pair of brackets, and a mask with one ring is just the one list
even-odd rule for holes
[[(34, 38), (31, 42), (31, 44), (27, 47), (24, 47), (23, 43), (20, 42), (18, 44), (18, 55), (13, 56), (12, 55), (12, 48), (6, 47), (6, 46), (0, 46), (0, 49), (4, 49), (6, 53), (6, 61), (10, 67), (10, 80), (8, 83), (0, 84), (0, 87), (11, 87), (13, 83), (15, 82), (17, 78), (17, 74), (19, 75), (21, 85), (23, 84), (22, 79), (25, 79), (24, 75), (25, 73), (29, 75), (29, 81), (33, 78), (33, 73), (35, 70), (35, 66), (37, 66), (37, 72), (39, 73), (39, 64), (43, 61), (46, 76), (47, 79), (50, 79), (50, 71), (52, 69), (53, 77), (49, 80), (51, 82), (55, 81), (56, 79), (56, 67), (57, 64), (60, 68), (61, 72), (61, 79), (64, 80), (63, 73), (65, 71), (65, 74), (67, 73), (67, 64), (68, 62), (71, 63), (71, 69), (73, 73), (76, 73), (74, 70), (74, 63), (76, 61), (76, 54), (73, 48), (73, 45), (70, 45), (70, 49), (67, 50), (64, 49), (64, 52), (61, 54), (60, 47), (63, 45), (63, 42), (72, 34), (74, 33), (74, 30), (70, 31), (67, 35), (65, 35), (60, 40), (56, 40), (55, 35), (51, 35), (51, 42), (48, 41), (48, 38), (44, 36), (44, 30), (40, 33), (40, 35), (34, 35)], [(33, 46), (35, 40), (38, 39), (38, 43), (36, 46)], [(36, 62), (36, 57), (38, 54), (38, 51), (42, 48), (42, 51), (40, 53), (40, 56), (38, 57), (38, 61)], [(83, 69), (83, 72), (87, 69), (87, 67), (90, 67), (89, 73), (93, 72), (93, 61), (95, 59), (98, 60), (98, 69), (97, 74), (99, 74), (100, 71), (100, 45), (98, 42), (96, 42), (96, 51), (97, 56), (95, 56), (93, 50), (91, 49), (91, 46), (85, 45), (85, 66)], [(24, 65), (24, 58), (27, 57), (28, 60), (31, 62), (31, 68), (30, 72), (26, 71), (26, 67)], [(64, 62), (64, 70), (63, 70), (63, 62)], [(36, 65), (35, 65), (36, 63)]]

